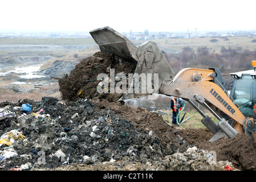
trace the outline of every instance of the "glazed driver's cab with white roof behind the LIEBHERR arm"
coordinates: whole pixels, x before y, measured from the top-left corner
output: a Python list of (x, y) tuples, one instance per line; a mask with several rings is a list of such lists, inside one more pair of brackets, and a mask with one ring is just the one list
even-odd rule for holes
[(242, 71), (230, 73), (234, 78), (230, 90), (230, 96), (234, 99), (234, 104), (246, 117), (256, 118), (256, 79), (255, 71)]

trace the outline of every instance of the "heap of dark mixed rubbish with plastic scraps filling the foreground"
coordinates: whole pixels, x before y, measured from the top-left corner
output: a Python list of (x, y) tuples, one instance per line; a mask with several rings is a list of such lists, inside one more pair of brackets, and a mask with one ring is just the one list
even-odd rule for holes
[(190, 147), (182, 137), (164, 147), (155, 131), (141, 131), (109, 107), (99, 109), (89, 99), (63, 103), (43, 97), (40, 102), (2, 102), (0, 108), (1, 170), (104, 162), (118, 162), (120, 169), (127, 169), (124, 167), (131, 162), (155, 170), (220, 170), (231, 166), (209, 160), (209, 152)]

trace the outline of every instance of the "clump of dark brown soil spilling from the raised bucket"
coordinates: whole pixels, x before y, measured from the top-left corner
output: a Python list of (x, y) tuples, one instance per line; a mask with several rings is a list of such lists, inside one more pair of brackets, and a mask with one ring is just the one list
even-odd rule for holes
[[(76, 64), (69, 76), (59, 80), (60, 92), (64, 100), (76, 101), (78, 98), (100, 98), (108, 101), (117, 101), (121, 94), (98, 93), (97, 85), (101, 80), (97, 80), (100, 73), (105, 73), (110, 77), (110, 69), (115, 69), (117, 73), (133, 73), (136, 65), (128, 61), (122, 61), (120, 57), (111, 53), (96, 52), (93, 56), (87, 57)], [(79, 94), (79, 92), (81, 94)]]

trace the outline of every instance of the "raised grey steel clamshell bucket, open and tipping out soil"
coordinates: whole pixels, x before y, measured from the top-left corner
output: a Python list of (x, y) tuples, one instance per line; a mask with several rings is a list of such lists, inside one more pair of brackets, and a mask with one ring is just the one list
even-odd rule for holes
[(147, 41), (136, 47), (110, 27), (97, 28), (90, 34), (101, 52), (114, 53), (125, 61), (137, 64), (132, 84), (120, 100), (158, 93), (162, 81), (173, 80), (174, 72), (156, 43)]

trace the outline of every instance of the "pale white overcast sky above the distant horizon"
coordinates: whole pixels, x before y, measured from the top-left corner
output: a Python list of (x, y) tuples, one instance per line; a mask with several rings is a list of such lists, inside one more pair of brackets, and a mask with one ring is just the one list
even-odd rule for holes
[(0, 3), (0, 30), (255, 30), (255, 5), (255, 0), (6, 0)]

